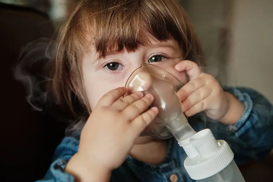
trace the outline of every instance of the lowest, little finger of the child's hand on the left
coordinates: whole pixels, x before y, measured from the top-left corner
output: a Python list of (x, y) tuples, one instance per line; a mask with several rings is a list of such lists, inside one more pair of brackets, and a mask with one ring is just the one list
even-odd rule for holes
[(135, 136), (138, 136), (157, 116), (158, 109), (152, 107), (150, 110), (137, 116), (132, 122), (132, 130), (135, 132)]

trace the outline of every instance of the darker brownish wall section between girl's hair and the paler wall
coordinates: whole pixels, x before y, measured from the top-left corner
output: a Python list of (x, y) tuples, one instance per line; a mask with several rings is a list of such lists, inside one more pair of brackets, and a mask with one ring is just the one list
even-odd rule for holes
[[(220, 29), (225, 26), (224, 2), (226, 0), (180, 0), (190, 16), (205, 54), (207, 72), (217, 77), (224, 61), (221, 58)], [(221, 61), (219, 61), (221, 60)]]

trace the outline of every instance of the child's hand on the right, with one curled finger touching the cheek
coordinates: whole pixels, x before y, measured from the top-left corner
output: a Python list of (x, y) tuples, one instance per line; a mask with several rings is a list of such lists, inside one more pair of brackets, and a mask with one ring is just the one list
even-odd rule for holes
[(175, 69), (186, 71), (190, 81), (178, 92), (182, 112), (187, 116), (205, 111), (211, 119), (222, 118), (229, 110), (229, 96), (213, 76), (201, 72), (199, 66), (188, 60), (179, 62)]

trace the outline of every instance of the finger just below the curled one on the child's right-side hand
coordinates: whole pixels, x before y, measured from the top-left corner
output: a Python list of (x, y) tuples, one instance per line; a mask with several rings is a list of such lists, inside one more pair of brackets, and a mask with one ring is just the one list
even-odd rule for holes
[(184, 101), (190, 94), (192, 94), (194, 91), (199, 89), (200, 87), (204, 86), (206, 82), (201, 77), (198, 77), (197, 79), (194, 79), (188, 83), (186, 83), (178, 92), (177, 95), (180, 99), (180, 101)]

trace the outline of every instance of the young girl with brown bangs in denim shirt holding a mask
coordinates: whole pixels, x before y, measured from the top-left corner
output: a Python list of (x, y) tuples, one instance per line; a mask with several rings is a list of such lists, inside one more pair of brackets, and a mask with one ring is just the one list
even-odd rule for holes
[(62, 140), (40, 181), (194, 181), (174, 137), (140, 136), (158, 113), (146, 111), (153, 96), (123, 97), (126, 80), (143, 63), (185, 83), (177, 95), (190, 125), (204, 129), (205, 122), (194, 117), (204, 111), (212, 121), (206, 127), (230, 144), (237, 164), (261, 159), (273, 148), (272, 105), (252, 89), (223, 88), (201, 71), (200, 44), (177, 0), (80, 1), (57, 41), (51, 99), (75, 117), (89, 114), (80, 136)]

